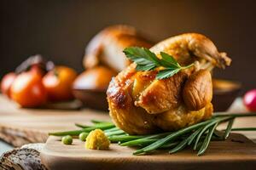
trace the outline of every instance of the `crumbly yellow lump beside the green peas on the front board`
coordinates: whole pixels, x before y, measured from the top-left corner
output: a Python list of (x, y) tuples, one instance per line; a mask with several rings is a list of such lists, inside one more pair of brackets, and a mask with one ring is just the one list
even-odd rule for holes
[(95, 129), (89, 133), (86, 138), (85, 148), (90, 150), (108, 150), (108, 137), (101, 129)]

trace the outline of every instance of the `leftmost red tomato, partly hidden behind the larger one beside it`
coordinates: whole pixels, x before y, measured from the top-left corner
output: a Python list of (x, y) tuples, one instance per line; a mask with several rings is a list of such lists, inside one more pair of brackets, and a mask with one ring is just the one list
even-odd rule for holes
[(1, 91), (4, 95), (10, 98), (10, 88), (15, 81), (16, 74), (14, 72), (9, 72), (6, 74), (1, 81)]

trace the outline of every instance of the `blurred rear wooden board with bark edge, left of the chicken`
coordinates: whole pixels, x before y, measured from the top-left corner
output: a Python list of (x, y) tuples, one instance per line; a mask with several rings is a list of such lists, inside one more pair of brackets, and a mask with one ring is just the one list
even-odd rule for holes
[(0, 95), (0, 139), (14, 146), (44, 143), (49, 132), (75, 128), (74, 122), (109, 120), (107, 112), (94, 110), (21, 109)]

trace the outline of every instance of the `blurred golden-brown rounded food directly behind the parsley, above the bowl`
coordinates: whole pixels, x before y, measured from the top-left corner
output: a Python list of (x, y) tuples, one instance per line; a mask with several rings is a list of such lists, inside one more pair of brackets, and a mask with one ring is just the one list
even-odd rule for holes
[(152, 43), (140, 37), (131, 26), (109, 26), (96, 34), (85, 48), (84, 68), (107, 65), (114, 71), (122, 71), (130, 64), (123, 49), (131, 46), (150, 48)]

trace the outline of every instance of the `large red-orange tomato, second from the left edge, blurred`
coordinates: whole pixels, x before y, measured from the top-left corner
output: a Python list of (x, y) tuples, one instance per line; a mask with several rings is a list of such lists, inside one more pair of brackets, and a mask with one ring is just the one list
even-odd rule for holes
[(21, 107), (37, 107), (47, 99), (42, 77), (34, 71), (20, 73), (15, 78), (10, 93), (11, 98)]

